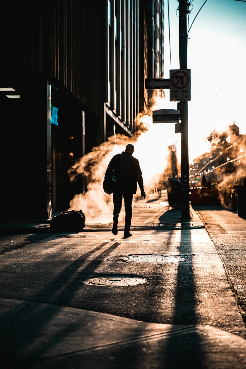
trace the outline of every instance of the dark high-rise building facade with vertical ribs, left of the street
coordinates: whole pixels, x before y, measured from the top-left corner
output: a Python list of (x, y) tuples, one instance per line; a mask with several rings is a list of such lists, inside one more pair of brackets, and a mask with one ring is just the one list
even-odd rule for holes
[(145, 78), (163, 73), (163, 1), (7, 2), (2, 12), (4, 217), (49, 219), (86, 191), (70, 166), (114, 133), (134, 135), (148, 110)]

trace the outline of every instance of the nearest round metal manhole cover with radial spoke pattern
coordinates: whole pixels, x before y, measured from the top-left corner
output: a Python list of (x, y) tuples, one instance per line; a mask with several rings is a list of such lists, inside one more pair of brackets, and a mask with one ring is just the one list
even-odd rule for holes
[(121, 287), (121, 286), (133, 286), (135, 284), (146, 283), (147, 280), (140, 277), (132, 276), (115, 276), (110, 277), (93, 277), (83, 281), (86, 284), (96, 284), (96, 286), (110, 286), (110, 287)]

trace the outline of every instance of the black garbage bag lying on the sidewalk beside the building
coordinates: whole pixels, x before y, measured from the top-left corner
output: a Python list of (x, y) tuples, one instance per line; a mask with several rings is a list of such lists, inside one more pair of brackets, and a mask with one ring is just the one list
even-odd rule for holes
[(51, 228), (57, 231), (64, 229), (79, 231), (86, 226), (85, 221), (86, 217), (82, 210), (62, 211), (51, 219)]

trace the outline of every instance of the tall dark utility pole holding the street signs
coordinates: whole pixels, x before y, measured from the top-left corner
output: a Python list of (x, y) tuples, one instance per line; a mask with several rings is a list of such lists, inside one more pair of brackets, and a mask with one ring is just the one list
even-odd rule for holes
[[(187, 13), (188, 1), (179, 0), (179, 64), (180, 69), (187, 69)], [(178, 103), (180, 110), (181, 131), (181, 218), (190, 218), (190, 182), (188, 156), (188, 102)]]

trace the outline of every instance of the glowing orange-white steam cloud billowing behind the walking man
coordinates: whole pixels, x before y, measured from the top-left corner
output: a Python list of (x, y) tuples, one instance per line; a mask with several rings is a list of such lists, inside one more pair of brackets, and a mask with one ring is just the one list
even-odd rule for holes
[[(76, 194), (70, 201), (69, 210), (82, 210), (86, 215), (86, 223), (111, 223), (113, 213), (112, 195), (103, 190), (104, 173), (108, 163), (116, 154), (121, 154), (127, 144), (133, 144), (133, 156), (139, 160), (143, 175), (146, 194), (153, 192), (156, 183), (167, 167), (169, 155), (168, 146), (177, 140), (174, 124), (152, 124), (152, 110), (164, 108), (164, 99), (157, 99), (149, 115), (139, 114), (137, 126), (139, 131), (129, 138), (117, 134), (108, 138), (100, 146), (80, 158), (69, 170), (70, 181), (75, 181), (83, 175), (87, 182), (87, 192)], [(135, 199), (141, 197), (139, 187)], [(122, 204), (124, 209), (124, 201)], [(124, 219), (121, 211), (119, 220)]]

